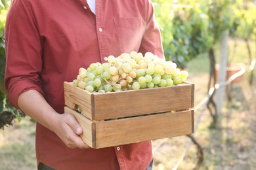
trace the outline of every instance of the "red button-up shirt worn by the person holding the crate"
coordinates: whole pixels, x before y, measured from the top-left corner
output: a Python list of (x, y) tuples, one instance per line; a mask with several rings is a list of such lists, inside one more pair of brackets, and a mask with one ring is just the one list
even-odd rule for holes
[[(160, 30), (148, 0), (97, 0), (96, 16), (86, 0), (14, 0), (6, 23), (5, 87), (18, 108), (18, 95), (42, 93), (64, 112), (63, 82), (79, 67), (105, 62), (123, 52), (152, 52), (163, 57)], [(54, 169), (146, 169), (150, 141), (101, 149), (71, 149), (37, 124), (37, 162)]]

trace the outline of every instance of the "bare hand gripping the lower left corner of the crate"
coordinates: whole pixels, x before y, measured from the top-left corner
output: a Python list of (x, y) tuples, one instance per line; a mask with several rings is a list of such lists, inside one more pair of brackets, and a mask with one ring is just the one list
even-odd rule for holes
[(90, 148), (79, 136), (83, 133), (83, 129), (72, 114), (55, 115), (56, 121), (53, 121), (54, 124), (52, 124), (51, 129), (66, 146), (69, 148)]

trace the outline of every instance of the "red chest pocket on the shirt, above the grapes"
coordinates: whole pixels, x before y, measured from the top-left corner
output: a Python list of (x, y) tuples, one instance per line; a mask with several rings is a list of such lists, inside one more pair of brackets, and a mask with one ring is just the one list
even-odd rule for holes
[(114, 24), (120, 52), (138, 52), (145, 30), (145, 22), (140, 18), (114, 18)]

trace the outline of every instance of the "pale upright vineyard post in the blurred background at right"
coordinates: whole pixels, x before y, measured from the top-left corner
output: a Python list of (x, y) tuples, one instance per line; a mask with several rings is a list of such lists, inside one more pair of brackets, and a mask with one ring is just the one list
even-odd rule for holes
[[(220, 44), (220, 55), (219, 55), (219, 75), (217, 78), (217, 83), (221, 84), (226, 81), (226, 65), (228, 62), (228, 31), (224, 33), (221, 44)], [(217, 114), (221, 114), (221, 109), (223, 107), (225, 86), (220, 87), (216, 91), (216, 106)]]

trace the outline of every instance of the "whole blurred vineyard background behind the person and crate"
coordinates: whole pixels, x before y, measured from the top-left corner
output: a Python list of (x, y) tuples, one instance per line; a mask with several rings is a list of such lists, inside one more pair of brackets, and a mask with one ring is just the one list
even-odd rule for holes
[[(195, 132), (153, 141), (154, 169), (256, 169), (256, 1), (152, 2), (165, 58), (195, 84)], [(10, 3), (0, 1), (0, 169), (36, 169), (35, 123), (3, 88)]]

